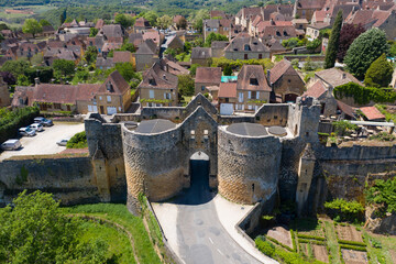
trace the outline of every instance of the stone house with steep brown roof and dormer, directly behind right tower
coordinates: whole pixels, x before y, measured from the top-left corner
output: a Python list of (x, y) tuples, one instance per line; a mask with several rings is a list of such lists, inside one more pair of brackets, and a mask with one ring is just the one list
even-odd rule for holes
[(243, 65), (238, 74), (235, 111), (256, 111), (270, 102), (271, 91), (261, 65)]

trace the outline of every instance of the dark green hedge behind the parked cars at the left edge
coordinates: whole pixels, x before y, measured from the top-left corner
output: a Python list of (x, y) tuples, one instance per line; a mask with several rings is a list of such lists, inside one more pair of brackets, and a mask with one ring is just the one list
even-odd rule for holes
[(15, 138), (18, 130), (33, 123), (38, 113), (36, 107), (26, 107), (13, 111), (0, 109), (0, 143)]

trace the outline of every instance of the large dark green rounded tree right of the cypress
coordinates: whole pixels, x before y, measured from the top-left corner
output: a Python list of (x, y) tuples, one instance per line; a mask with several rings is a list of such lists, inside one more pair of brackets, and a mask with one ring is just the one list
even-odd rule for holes
[(384, 31), (371, 29), (358, 36), (344, 57), (348, 70), (358, 79), (364, 79), (370, 65), (382, 54), (387, 54), (389, 46)]

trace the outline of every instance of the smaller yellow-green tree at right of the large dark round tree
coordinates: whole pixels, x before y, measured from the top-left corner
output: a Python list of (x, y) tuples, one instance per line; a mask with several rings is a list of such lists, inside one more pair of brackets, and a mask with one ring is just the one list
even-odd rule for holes
[(383, 54), (370, 65), (364, 77), (364, 84), (369, 87), (387, 87), (392, 81), (392, 64)]

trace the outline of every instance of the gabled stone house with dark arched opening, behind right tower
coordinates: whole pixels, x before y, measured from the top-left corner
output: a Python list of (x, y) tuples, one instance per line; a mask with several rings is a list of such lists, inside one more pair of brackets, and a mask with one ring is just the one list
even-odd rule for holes
[(295, 102), (305, 91), (304, 80), (287, 59), (267, 69), (267, 78), (272, 88), (272, 102)]

